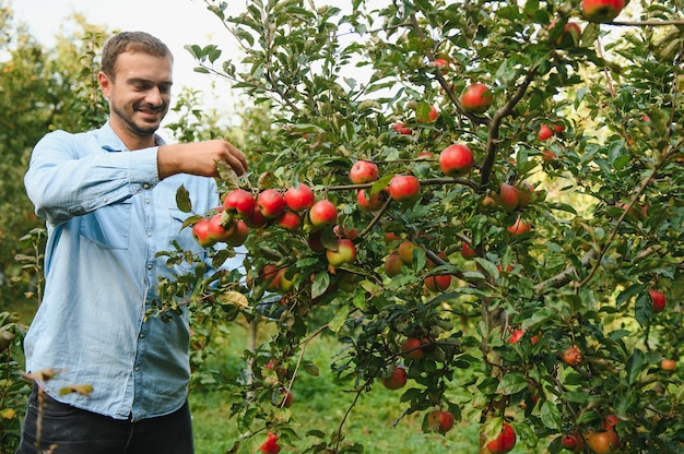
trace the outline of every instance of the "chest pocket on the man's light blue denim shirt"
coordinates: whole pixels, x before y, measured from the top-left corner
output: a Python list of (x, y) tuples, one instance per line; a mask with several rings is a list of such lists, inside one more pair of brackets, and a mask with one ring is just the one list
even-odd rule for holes
[(81, 235), (105, 249), (128, 249), (132, 205), (125, 200), (81, 216)]

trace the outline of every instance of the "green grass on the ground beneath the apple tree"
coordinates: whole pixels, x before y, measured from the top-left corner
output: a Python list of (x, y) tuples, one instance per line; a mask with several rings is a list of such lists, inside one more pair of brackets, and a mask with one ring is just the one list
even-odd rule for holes
[[(240, 328), (234, 328), (236, 333)], [(208, 366), (221, 372), (226, 379), (234, 379), (238, 373), (237, 353), (245, 346), (247, 336), (231, 335), (220, 339), (222, 354), (213, 358)], [(327, 437), (337, 431), (344, 418), (355, 393), (340, 387), (330, 371), (330, 358), (339, 349), (332, 338), (321, 337), (310, 343), (306, 359), (311, 360), (320, 370), (320, 375), (311, 377), (304, 372), (297, 375), (293, 386), (295, 401), (290, 408), (293, 428), (303, 438), (294, 446), (283, 446), (283, 453), (304, 451), (316, 442), (307, 439), (311, 429), (323, 431)], [(409, 385), (411, 382), (409, 382)], [(364, 453), (369, 454), (413, 454), (413, 453), (476, 453), (480, 427), (476, 423), (461, 422), (446, 435), (423, 433), (421, 426), (423, 414), (408, 415), (396, 425), (405, 405), (400, 402), (403, 390), (390, 391), (380, 385), (364, 393), (346, 419), (343, 431), (346, 441), (364, 445)], [(228, 452), (240, 439), (237, 423), (229, 418), (231, 403), (224, 391), (202, 387), (190, 394), (193, 415), (197, 454), (223, 454)], [(244, 440), (238, 453), (255, 453), (264, 437), (258, 434)], [(524, 451), (515, 452), (522, 453)]]

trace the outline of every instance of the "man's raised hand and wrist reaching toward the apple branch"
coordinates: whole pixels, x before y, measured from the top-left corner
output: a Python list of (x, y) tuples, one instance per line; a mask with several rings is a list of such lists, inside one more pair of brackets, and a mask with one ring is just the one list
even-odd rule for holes
[(205, 142), (162, 145), (157, 153), (160, 179), (176, 174), (219, 177), (216, 162), (226, 163), (237, 175), (247, 171), (247, 158), (229, 142)]

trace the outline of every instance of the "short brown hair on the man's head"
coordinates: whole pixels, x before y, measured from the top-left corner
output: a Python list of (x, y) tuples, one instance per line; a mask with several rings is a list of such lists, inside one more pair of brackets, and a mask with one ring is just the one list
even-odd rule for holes
[(145, 32), (121, 32), (107, 40), (102, 50), (101, 70), (110, 77), (116, 72), (117, 58), (123, 52), (144, 52), (154, 57), (174, 56), (158, 38)]

